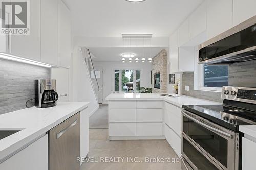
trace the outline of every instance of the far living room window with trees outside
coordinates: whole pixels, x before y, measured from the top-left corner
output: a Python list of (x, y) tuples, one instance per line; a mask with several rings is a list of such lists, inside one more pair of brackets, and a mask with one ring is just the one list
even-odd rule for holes
[(128, 92), (140, 90), (140, 70), (114, 70), (115, 92)]

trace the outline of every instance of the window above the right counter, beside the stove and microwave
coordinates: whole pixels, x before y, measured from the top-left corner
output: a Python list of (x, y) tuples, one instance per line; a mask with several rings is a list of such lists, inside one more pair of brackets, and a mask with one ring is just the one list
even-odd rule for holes
[(204, 65), (204, 87), (228, 86), (227, 65)]

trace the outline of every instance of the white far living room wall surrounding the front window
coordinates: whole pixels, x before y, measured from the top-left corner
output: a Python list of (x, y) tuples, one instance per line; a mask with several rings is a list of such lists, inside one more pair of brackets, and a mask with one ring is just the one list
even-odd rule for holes
[(94, 62), (95, 68), (103, 68), (103, 104), (108, 102), (106, 96), (114, 91), (114, 70), (115, 69), (138, 69), (141, 70), (141, 86), (151, 87), (151, 63), (122, 63), (120, 62)]

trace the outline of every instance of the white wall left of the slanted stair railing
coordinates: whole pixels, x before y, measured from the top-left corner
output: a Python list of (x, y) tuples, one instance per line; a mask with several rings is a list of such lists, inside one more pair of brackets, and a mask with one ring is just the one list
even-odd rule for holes
[(93, 91), (86, 64), (84, 63), (83, 57), (78, 53), (78, 49), (74, 50), (73, 53), (72, 68), (73, 101), (90, 101), (88, 112), (89, 116), (91, 116), (99, 108), (99, 105)]

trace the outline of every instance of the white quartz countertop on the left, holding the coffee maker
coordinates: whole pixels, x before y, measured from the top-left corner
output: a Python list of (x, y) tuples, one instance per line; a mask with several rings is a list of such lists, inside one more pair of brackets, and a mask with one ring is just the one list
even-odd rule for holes
[(0, 115), (0, 130), (20, 130), (0, 140), (0, 162), (67, 118), (87, 108), (89, 103), (58, 102), (50, 108), (31, 107)]

